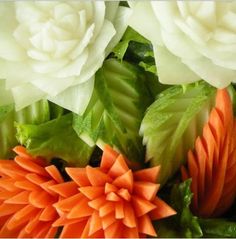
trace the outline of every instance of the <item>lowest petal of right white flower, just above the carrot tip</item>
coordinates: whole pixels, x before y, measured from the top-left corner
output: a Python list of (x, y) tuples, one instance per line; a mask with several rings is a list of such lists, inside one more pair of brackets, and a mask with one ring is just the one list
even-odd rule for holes
[(207, 58), (202, 57), (187, 61), (183, 59), (182, 61), (202, 79), (217, 88), (227, 87), (236, 79), (235, 71), (217, 66)]

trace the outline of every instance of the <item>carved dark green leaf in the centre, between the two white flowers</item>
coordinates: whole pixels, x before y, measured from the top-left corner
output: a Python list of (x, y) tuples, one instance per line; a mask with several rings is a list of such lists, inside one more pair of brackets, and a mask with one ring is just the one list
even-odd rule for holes
[(85, 114), (74, 115), (74, 129), (91, 146), (110, 144), (130, 160), (140, 161), (143, 147), (138, 131), (149, 97), (138, 68), (109, 59), (96, 74)]

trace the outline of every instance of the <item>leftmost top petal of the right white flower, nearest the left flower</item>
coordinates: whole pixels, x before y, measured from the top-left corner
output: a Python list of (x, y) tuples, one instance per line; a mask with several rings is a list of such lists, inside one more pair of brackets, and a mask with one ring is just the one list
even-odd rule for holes
[(128, 23), (139, 34), (151, 42), (161, 45), (160, 25), (150, 4), (149, 1), (138, 1), (136, 4), (132, 4), (133, 14)]

